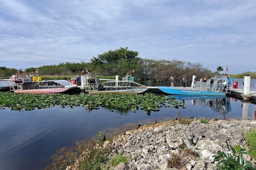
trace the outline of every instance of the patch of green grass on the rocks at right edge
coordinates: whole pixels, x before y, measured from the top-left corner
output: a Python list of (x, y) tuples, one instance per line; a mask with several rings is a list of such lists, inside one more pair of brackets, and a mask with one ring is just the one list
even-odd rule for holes
[(256, 130), (252, 129), (245, 134), (246, 143), (248, 144), (248, 153), (256, 159)]

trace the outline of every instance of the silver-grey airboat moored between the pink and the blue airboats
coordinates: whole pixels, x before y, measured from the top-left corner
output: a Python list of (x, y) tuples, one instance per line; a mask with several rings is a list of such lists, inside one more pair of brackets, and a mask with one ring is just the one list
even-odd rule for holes
[(139, 94), (148, 89), (133, 80), (134, 77), (130, 74), (127, 74), (122, 80), (113, 80), (98, 79), (93, 73), (87, 73), (76, 75), (70, 82), (81, 85), (80, 88), (89, 94)]

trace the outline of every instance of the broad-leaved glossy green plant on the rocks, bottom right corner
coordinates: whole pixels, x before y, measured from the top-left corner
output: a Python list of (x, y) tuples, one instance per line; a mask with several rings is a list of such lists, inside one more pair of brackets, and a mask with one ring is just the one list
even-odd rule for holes
[(242, 155), (248, 154), (245, 149), (237, 145), (235, 148), (229, 145), (233, 154), (226, 153), (218, 150), (217, 155), (214, 155), (214, 161), (219, 161), (216, 165), (219, 170), (238, 169), (238, 170), (252, 170), (256, 169), (253, 167), (251, 162), (245, 162)]

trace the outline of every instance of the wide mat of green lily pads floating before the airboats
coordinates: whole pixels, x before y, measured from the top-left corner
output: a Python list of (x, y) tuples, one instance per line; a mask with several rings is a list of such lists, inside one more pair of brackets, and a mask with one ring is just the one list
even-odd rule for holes
[(156, 96), (152, 93), (145, 94), (22, 94), (12, 92), (0, 92), (0, 109), (11, 110), (34, 110), (59, 105), (63, 108), (84, 106), (88, 109), (99, 109), (100, 107), (111, 110), (145, 110), (159, 111), (159, 108), (184, 106), (178, 100), (168, 99), (167, 96)]

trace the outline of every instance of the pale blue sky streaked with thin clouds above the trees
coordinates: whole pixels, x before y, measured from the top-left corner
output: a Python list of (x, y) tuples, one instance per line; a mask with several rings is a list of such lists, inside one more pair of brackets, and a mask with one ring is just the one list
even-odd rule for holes
[(256, 1), (0, 0), (0, 66), (88, 62), (120, 47), (139, 57), (256, 71)]

